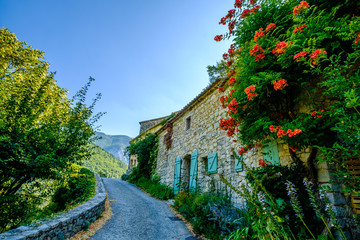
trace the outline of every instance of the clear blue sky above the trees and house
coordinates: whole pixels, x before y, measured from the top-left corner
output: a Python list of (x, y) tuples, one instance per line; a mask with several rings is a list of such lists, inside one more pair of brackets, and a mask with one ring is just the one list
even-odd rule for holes
[(182, 109), (229, 48), (215, 42), (235, 0), (0, 0), (0, 26), (36, 49), (72, 96), (88, 80), (106, 134)]

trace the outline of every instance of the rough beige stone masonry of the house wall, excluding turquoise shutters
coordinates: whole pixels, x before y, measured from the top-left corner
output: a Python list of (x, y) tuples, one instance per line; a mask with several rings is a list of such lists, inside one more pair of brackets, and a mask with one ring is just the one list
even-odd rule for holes
[[(175, 158), (182, 158), (181, 181), (184, 184), (189, 182), (190, 155), (198, 150), (198, 184), (202, 191), (213, 189), (228, 190), (225, 184), (220, 181), (219, 174), (222, 173), (236, 187), (245, 182), (245, 171), (236, 172), (235, 158), (232, 149), (238, 151), (240, 145), (233, 142), (235, 138), (229, 138), (226, 131), (219, 129), (219, 122), (222, 117), (227, 118), (226, 110), (221, 107), (218, 86), (205, 90), (197, 100), (185, 108), (180, 117), (173, 121), (172, 146), (166, 149), (166, 129), (158, 132), (159, 152), (156, 172), (161, 176), (161, 181), (168, 186), (174, 185)], [(179, 115), (180, 115), (179, 114)], [(190, 128), (187, 130), (187, 119), (190, 118)], [(279, 158), (282, 165), (289, 164), (291, 158), (288, 147), (278, 145)], [(217, 173), (207, 174), (207, 156), (211, 153), (218, 154)], [(299, 154), (301, 159), (306, 159), (308, 151)], [(263, 158), (262, 150), (255, 147), (244, 154), (244, 162), (248, 167), (258, 166), (259, 159)], [(234, 192), (231, 193), (232, 200), (237, 205), (242, 205), (243, 199)]]

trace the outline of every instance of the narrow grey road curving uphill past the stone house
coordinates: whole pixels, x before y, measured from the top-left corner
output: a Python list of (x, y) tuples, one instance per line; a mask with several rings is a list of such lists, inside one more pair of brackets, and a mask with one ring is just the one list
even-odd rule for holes
[(103, 178), (113, 216), (92, 240), (194, 240), (184, 222), (164, 201), (154, 199), (120, 179)]

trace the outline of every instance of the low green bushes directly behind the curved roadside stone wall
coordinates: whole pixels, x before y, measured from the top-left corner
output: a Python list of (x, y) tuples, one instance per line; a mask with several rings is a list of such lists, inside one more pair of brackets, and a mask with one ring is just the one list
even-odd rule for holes
[(86, 168), (72, 165), (59, 180), (25, 184), (20, 194), (0, 199), (0, 232), (48, 219), (69, 210), (95, 194), (96, 179)]

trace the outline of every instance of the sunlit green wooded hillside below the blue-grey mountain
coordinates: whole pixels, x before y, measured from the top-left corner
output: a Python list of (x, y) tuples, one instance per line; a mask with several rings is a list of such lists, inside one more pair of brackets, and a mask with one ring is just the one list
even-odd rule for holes
[(102, 177), (121, 178), (128, 166), (117, 159), (114, 155), (103, 150), (99, 146), (92, 146), (92, 155), (89, 160), (83, 161), (82, 165)]

